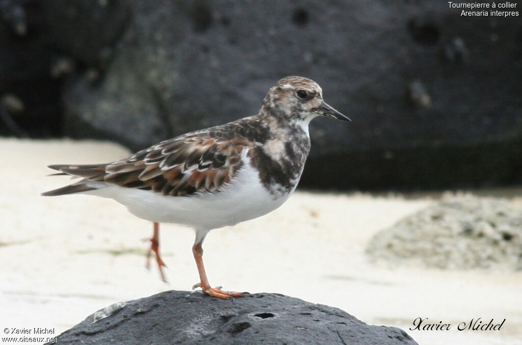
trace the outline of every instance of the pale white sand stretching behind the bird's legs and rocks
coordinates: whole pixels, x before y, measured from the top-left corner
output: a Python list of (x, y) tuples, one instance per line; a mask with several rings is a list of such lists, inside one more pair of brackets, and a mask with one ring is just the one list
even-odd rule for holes
[[(108, 162), (127, 155), (121, 146), (3, 139), (0, 152), (0, 332), (54, 327), (58, 335), (111, 303), (189, 290), (198, 281), (192, 230), (162, 225), (165, 285), (156, 266), (144, 269), (148, 243), (140, 239), (150, 237), (151, 223), (111, 200), (39, 195), (68, 182), (45, 177), (52, 172), (45, 165)], [(298, 192), (267, 216), (210, 232), (204, 244), (210, 282), (336, 306), (369, 324), (401, 327), (420, 344), (522, 344), (522, 273), (367, 263), (364, 249), (376, 231), (434, 202)], [(417, 317), (454, 327), (408, 330)], [(506, 322), (501, 331), (456, 330), (478, 317)]]

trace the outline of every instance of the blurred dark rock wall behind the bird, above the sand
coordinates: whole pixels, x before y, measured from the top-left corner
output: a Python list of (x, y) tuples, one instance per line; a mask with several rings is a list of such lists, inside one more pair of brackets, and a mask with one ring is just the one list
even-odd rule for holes
[(138, 150), (255, 114), (275, 81), (302, 75), (353, 122), (312, 122), (301, 186), (522, 182), (520, 16), (460, 17), (439, 0), (0, 0), (0, 11), (0, 96), (25, 105), (0, 102), (3, 134)]

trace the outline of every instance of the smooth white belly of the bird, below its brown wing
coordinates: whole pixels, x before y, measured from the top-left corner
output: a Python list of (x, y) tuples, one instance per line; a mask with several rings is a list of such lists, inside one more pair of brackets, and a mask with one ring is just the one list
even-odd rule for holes
[(111, 198), (135, 216), (159, 223), (176, 223), (198, 230), (230, 226), (263, 216), (281, 206), (291, 193), (271, 195), (258, 172), (245, 164), (219, 193), (165, 196), (156, 192), (112, 185), (85, 192)]

